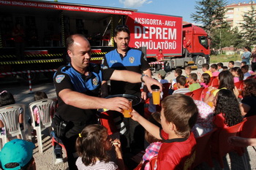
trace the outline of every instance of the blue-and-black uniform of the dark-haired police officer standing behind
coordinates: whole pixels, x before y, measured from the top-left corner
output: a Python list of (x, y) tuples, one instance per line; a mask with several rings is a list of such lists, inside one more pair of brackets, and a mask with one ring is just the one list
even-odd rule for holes
[[(102, 61), (102, 65), (105, 69), (117, 69), (117, 70), (128, 70), (132, 72), (137, 72), (141, 74), (142, 71), (146, 71), (150, 68), (148, 62), (144, 58), (144, 54), (135, 48), (130, 48), (127, 50), (127, 53), (121, 55), (118, 53), (117, 49), (107, 53)], [(130, 83), (122, 81), (110, 81), (110, 94), (129, 94), (135, 95), (140, 98), (140, 87), (141, 82), (139, 83)], [(133, 107), (140, 115), (144, 115), (144, 103), (140, 103), (137, 106)], [(117, 115), (116, 113), (115, 115)], [(121, 115), (122, 116), (122, 115)], [(124, 147), (132, 147), (129, 144), (134, 144), (135, 147), (143, 148), (143, 128), (139, 125), (138, 122), (130, 119), (124, 118), (124, 124), (127, 127), (127, 132), (124, 134), (127, 141), (122, 142), (123, 149)], [(136, 129), (136, 131), (135, 131)], [(125, 146), (124, 143), (127, 143)]]

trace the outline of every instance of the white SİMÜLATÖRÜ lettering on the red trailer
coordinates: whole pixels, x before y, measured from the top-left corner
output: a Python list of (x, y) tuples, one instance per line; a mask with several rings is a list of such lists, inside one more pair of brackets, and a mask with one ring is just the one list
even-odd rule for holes
[(177, 42), (153, 42), (150, 40), (149, 42), (135, 42), (135, 47), (147, 47), (149, 50), (158, 50), (158, 49), (164, 49), (164, 50), (176, 50), (177, 48)]

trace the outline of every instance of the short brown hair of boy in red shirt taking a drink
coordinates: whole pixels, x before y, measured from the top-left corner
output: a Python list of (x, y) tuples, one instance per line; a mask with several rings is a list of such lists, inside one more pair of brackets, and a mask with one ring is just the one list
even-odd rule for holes
[(188, 138), (198, 115), (197, 105), (193, 99), (178, 93), (165, 97), (161, 105), (166, 121), (176, 125), (176, 135)]

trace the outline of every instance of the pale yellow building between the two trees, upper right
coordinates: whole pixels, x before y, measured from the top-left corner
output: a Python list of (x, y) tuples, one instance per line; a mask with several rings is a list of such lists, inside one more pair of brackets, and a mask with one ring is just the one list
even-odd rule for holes
[(238, 27), (238, 31), (241, 31), (241, 24), (244, 22), (244, 12), (248, 12), (251, 9), (251, 5), (256, 7), (255, 1), (249, 1), (248, 4), (245, 2), (238, 2), (238, 4), (228, 4), (225, 8), (227, 12), (225, 13), (225, 20), (231, 28)]

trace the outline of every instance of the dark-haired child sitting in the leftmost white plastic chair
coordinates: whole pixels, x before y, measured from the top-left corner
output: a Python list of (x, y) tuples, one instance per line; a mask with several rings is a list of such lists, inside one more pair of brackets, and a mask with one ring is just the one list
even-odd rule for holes
[[(7, 90), (4, 90), (0, 93), (0, 107), (4, 107), (10, 104), (15, 104), (15, 99), (12, 95), (12, 93), (7, 92)], [(19, 115), (19, 123), (20, 123), (20, 130), (22, 131), (24, 129), (23, 127), (23, 109), (20, 108), (19, 110), (20, 115)], [(4, 130), (4, 123), (3, 117), (0, 116), (0, 128), (1, 128), (1, 133), (5, 133)], [(21, 136), (17, 136), (18, 139), (21, 139)]]

